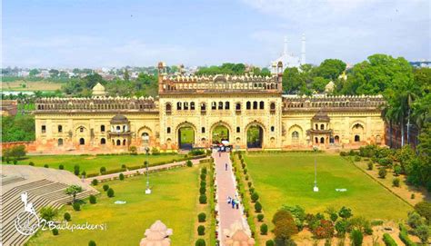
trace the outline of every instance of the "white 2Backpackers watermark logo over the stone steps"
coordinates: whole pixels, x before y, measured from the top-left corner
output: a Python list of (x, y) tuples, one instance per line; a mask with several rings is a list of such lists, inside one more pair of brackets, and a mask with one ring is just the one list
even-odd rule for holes
[(15, 218), (15, 229), (19, 233), (30, 236), (35, 234), (36, 231), (41, 229), (46, 230), (67, 230), (67, 231), (82, 231), (82, 230), (102, 230), (105, 231), (107, 226), (105, 223), (102, 224), (90, 224), (85, 222), (83, 224), (69, 224), (67, 221), (61, 223), (55, 221), (46, 221), (40, 219), (35, 212), (32, 202), (28, 202), (27, 192), (21, 194), (21, 202), (24, 203), (24, 211), (18, 212)]

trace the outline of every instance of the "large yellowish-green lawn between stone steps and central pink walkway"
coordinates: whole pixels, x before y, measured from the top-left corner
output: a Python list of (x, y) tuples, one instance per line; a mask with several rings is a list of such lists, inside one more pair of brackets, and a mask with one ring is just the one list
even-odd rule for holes
[[(90, 240), (97, 245), (138, 245), (145, 229), (156, 220), (173, 229), (172, 245), (194, 245), (198, 173), (197, 166), (151, 173), (150, 195), (144, 193), (145, 176), (99, 183), (96, 188), (101, 194), (96, 204), (85, 204), (81, 212), (73, 212), (67, 205), (62, 212), (71, 213), (73, 224), (105, 223), (106, 231), (60, 231), (58, 236), (43, 231), (28, 245), (87, 245)], [(105, 183), (114, 189), (114, 198), (103, 192)], [(127, 203), (118, 205), (115, 201)]]

